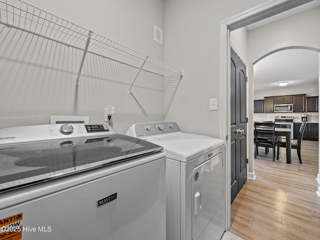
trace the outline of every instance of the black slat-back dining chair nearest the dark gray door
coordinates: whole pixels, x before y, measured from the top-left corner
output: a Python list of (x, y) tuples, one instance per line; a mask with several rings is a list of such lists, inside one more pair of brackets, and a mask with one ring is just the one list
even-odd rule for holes
[(254, 122), (254, 143), (255, 143), (255, 154), (258, 155), (258, 146), (265, 147), (265, 154), (269, 147), (272, 147), (272, 160), (274, 161), (275, 156), (275, 138), (274, 138), (274, 122)]

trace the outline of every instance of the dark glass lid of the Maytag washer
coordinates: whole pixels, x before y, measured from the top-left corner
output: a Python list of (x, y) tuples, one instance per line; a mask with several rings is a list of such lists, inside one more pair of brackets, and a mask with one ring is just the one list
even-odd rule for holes
[(122, 134), (0, 144), (0, 192), (162, 149), (154, 143)]

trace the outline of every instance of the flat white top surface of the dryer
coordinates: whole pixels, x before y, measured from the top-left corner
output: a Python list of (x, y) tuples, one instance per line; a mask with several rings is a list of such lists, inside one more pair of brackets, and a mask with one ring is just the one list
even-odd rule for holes
[(164, 147), (167, 158), (187, 162), (224, 144), (222, 139), (192, 133), (172, 133), (145, 140)]

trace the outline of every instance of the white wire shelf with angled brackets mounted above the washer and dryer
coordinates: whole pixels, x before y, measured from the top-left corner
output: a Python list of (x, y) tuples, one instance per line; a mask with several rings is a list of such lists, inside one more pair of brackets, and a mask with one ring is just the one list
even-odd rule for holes
[(176, 75), (180, 79), (183, 77), (183, 70), (172, 67), (22, 0), (0, 0), (0, 23), (7, 27), (14, 27), (83, 50), (76, 85), (79, 85), (78, 78), (87, 52), (138, 68), (139, 72), (140, 70), (145, 70), (166, 77)]

